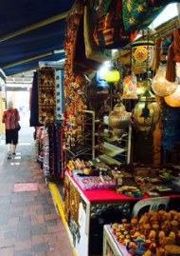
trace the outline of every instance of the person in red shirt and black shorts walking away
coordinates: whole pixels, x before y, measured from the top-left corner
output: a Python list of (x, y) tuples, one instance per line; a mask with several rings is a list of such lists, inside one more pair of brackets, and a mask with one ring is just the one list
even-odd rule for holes
[(18, 131), (20, 115), (17, 108), (13, 108), (12, 101), (9, 101), (7, 110), (3, 112), (2, 123), (5, 124), (6, 129), (6, 145), (8, 146), (8, 159), (14, 157), (16, 154), (16, 147), (18, 145)]

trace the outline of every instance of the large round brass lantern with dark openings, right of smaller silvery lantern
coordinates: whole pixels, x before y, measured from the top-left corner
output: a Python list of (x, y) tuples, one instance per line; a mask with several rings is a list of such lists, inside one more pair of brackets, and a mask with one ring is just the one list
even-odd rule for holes
[(160, 108), (149, 89), (140, 97), (133, 111), (135, 125), (140, 131), (149, 132), (159, 121)]

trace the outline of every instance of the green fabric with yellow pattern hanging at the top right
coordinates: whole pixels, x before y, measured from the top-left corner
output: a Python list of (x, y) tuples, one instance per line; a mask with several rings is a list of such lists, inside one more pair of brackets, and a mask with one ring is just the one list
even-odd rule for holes
[(129, 32), (147, 29), (165, 7), (164, 4), (153, 6), (152, 0), (122, 0), (122, 2), (124, 28)]

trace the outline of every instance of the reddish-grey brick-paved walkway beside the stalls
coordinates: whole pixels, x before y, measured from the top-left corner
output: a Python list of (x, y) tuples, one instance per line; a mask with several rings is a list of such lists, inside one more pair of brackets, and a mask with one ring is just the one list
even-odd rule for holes
[(33, 141), (21, 138), (14, 159), (7, 159), (3, 143), (0, 148), (0, 256), (73, 256)]

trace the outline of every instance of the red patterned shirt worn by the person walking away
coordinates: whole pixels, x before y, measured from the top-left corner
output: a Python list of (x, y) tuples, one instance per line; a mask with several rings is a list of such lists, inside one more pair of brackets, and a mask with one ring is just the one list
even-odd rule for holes
[(17, 108), (11, 108), (4, 111), (2, 122), (5, 123), (6, 129), (14, 129), (18, 127), (20, 120), (19, 111)]

